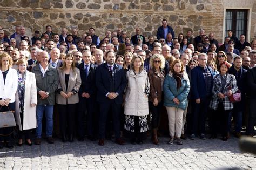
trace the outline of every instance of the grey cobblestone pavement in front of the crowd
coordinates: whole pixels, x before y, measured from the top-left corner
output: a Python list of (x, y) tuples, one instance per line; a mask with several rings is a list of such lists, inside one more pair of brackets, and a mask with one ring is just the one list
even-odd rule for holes
[(256, 168), (256, 157), (241, 153), (238, 139), (227, 142), (183, 140), (183, 145), (167, 145), (160, 138), (156, 146), (147, 139), (143, 145), (125, 146), (106, 140), (105, 146), (85, 140), (72, 144), (43, 141), (41, 146), (23, 145), (0, 150), (0, 169), (219, 169)]

